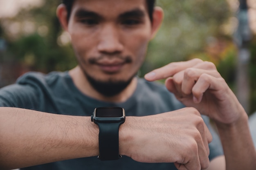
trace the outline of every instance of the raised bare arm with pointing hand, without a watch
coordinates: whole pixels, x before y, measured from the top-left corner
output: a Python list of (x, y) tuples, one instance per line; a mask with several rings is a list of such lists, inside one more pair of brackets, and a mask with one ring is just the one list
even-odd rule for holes
[[(256, 169), (256, 152), (248, 117), (213, 63), (199, 59), (170, 63), (145, 75), (145, 78), (149, 81), (167, 78), (166, 88), (177, 99), (216, 122), (227, 170)], [(218, 160), (221, 162), (223, 158)]]

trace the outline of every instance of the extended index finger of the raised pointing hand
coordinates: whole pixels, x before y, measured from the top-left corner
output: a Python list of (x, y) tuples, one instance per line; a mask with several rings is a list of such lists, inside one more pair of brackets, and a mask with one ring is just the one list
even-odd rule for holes
[(150, 71), (144, 76), (144, 78), (150, 82), (159, 79), (166, 79), (167, 77), (172, 77), (176, 73), (183, 71), (186, 68), (193, 67), (201, 62), (203, 61), (197, 58), (185, 62), (172, 62), (161, 68), (157, 68), (153, 71)]

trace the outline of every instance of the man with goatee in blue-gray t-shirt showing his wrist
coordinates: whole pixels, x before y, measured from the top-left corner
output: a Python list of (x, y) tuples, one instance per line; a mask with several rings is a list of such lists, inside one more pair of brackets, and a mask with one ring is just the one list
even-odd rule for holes
[[(135, 76), (162, 9), (150, 8), (151, 0), (64, 3), (57, 15), (79, 65), (64, 73), (28, 73), (1, 89), (1, 169), (255, 169), (247, 114), (212, 63), (171, 63), (145, 75), (148, 81), (166, 79), (171, 93)], [(91, 121), (98, 107), (125, 109), (117, 134), (108, 126), (99, 130), (104, 112), (95, 110), (97, 124)], [(107, 119), (116, 117), (104, 109)], [(199, 113), (216, 122), (225, 157)], [(119, 146), (123, 157), (101, 161), (104, 154), (112, 157), (104, 152), (112, 147), (111, 135), (119, 135), (113, 148)]]

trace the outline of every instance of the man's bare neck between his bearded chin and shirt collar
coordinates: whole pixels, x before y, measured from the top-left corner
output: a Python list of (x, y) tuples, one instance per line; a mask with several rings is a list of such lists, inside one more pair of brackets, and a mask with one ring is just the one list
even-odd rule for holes
[(79, 66), (76, 66), (75, 68), (70, 70), (69, 74), (75, 86), (84, 95), (105, 102), (125, 102), (132, 95), (132, 93), (135, 91), (137, 87), (137, 78), (134, 77), (130, 84), (123, 91), (121, 91), (121, 93), (112, 97), (106, 97), (104, 95), (101, 95), (101, 93), (99, 93), (92, 87), (92, 85), (88, 82), (86, 76), (84, 75), (83, 71)]

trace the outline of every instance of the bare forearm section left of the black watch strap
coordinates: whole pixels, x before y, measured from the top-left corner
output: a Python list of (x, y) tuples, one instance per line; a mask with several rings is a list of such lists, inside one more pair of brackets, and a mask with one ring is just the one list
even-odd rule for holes
[(90, 117), (0, 108), (0, 169), (96, 156), (98, 132)]

